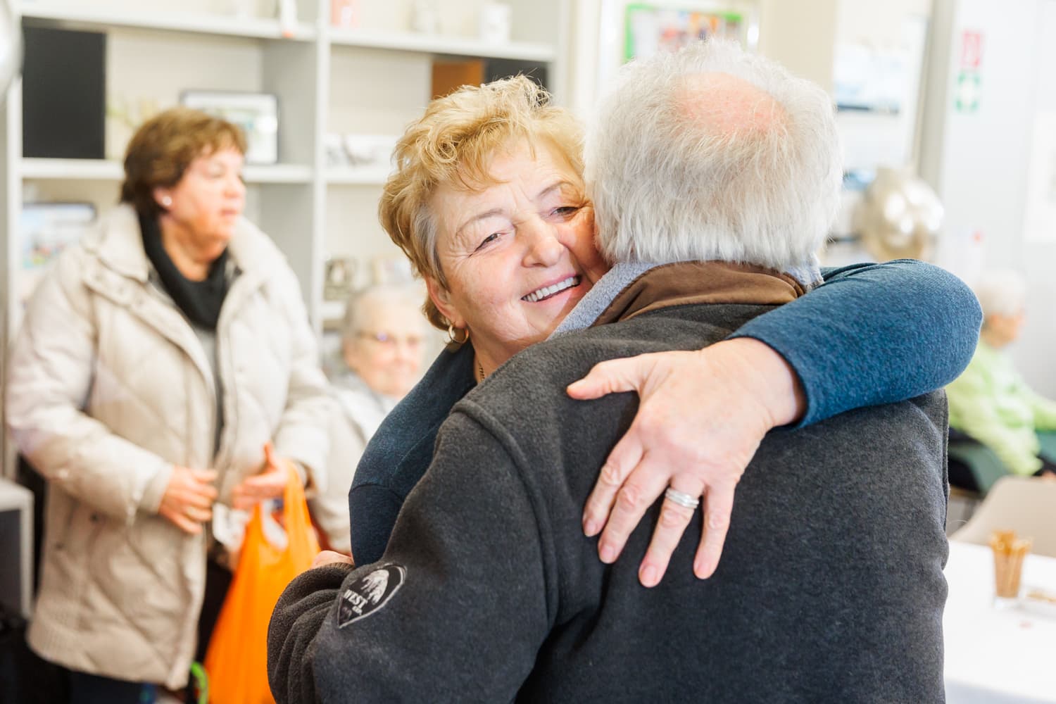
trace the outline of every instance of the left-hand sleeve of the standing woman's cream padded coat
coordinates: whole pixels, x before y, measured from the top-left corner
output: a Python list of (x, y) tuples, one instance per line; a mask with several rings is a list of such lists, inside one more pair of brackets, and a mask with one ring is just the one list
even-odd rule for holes
[(7, 429), (50, 482), (131, 521), (137, 510), (156, 513), (172, 467), (81, 411), (97, 336), (82, 256), (67, 251), (30, 301), (8, 363)]

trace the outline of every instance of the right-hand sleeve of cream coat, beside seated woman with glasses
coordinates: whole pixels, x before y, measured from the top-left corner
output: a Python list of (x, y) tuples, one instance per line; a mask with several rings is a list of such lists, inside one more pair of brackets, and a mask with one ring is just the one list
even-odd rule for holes
[(301, 300), (300, 286), (285, 264), (276, 273), (279, 301), (291, 334), (290, 369), (286, 407), (275, 432), (280, 455), (300, 462), (317, 490), (326, 487), (329, 418), (338, 413), (331, 399), (326, 377), (319, 364), (316, 334)]

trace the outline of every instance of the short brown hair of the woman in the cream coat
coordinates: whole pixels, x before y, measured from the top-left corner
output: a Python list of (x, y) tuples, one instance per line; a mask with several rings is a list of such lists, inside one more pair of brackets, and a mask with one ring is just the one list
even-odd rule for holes
[(121, 203), (153, 215), (163, 208), (155, 188), (171, 188), (199, 156), (233, 147), (246, 153), (246, 138), (238, 126), (190, 108), (172, 108), (144, 122), (125, 153)]

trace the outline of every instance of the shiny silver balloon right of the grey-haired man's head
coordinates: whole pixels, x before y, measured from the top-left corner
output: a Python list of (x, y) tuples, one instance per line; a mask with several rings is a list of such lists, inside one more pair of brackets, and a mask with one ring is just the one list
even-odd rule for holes
[(880, 168), (854, 211), (854, 229), (878, 261), (927, 259), (944, 210), (931, 187), (906, 171)]

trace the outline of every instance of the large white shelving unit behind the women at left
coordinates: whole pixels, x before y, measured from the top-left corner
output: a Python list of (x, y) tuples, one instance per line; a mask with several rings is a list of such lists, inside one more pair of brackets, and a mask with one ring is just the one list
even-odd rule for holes
[[(571, 0), (506, 0), (513, 6), (513, 37), (502, 44), (475, 38), (480, 1), (437, 0), (444, 15), (433, 35), (404, 31), (411, 0), (364, 0), (355, 30), (329, 25), (329, 0), (297, 0), (297, 22), (285, 34), (270, 17), (231, 16), (229, 0), (22, 0), (19, 12), (26, 26), (107, 34), (108, 106), (152, 113), (177, 104), (185, 90), (279, 96), (280, 163), (245, 168), (246, 214), (286, 254), (321, 331), (339, 307), (323, 300), (326, 259), (355, 258), (363, 275), (371, 259), (398, 252), (377, 223), (388, 169), (328, 167), (324, 135), (400, 134), (432, 97), (434, 59), (543, 64), (549, 88), (559, 101), (564, 98)], [(258, 2), (268, 9), (272, 4)], [(21, 319), (22, 204), (91, 202), (105, 212), (117, 201), (120, 155), (130, 135), (130, 128), (108, 118), (105, 159), (23, 158), (21, 84), (8, 90), (0, 108), (4, 349)], [(6, 448), (3, 457), (10, 454)]]

